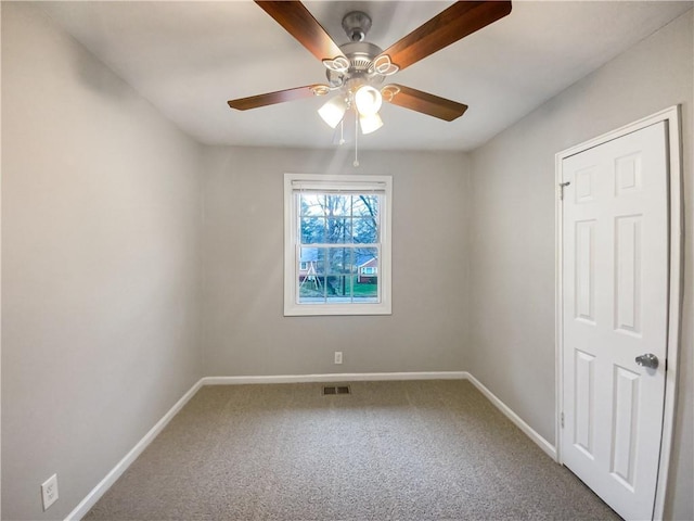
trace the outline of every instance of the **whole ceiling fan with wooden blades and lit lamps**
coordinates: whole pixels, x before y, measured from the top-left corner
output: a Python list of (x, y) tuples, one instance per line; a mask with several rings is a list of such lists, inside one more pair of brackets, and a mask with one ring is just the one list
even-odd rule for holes
[(445, 47), (502, 18), (511, 12), (511, 1), (460, 1), (385, 51), (364, 40), (371, 28), (367, 13), (352, 11), (343, 18), (349, 42), (337, 46), (300, 1), (259, 1), (256, 3), (322, 61), (327, 84), (313, 84), (229, 101), (240, 111), (336, 93), (318, 111), (331, 127), (337, 127), (348, 111), (355, 112), (362, 134), (378, 129), (378, 115), (385, 100), (394, 105), (451, 122), (467, 105), (399, 84), (382, 84), (398, 71), (423, 60)]

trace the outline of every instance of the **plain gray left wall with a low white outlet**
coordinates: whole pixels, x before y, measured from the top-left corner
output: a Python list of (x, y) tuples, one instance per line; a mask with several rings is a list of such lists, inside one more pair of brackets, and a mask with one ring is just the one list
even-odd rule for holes
[(200, 154), (3, 2), (3, 519), (64, 519), (201, 378)]

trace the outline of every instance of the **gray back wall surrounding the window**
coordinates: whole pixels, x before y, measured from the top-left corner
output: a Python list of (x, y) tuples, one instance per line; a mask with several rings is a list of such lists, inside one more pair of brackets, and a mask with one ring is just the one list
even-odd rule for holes
[[(209, 376), (463, 370), (468, 175), (462, 153), (210, 149), (204, 371)], [(283, 317), (283, 174), (393, 176), (393, 315)], [(333, 364), (333, 352), (344, 364)]]

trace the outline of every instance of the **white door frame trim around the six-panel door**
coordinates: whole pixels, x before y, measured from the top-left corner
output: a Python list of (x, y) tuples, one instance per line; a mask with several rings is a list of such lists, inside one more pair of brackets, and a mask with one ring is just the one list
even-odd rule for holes
[(561, 189), (558, 187), (563, 179), (562, 164), (563, 161), (570, 156), (592, 149), (607, 141), (620, 138), (627, 134), (641, 130), (659, 122), (666, 122), (667, 139), (669, 149), (669, 196), (668, 202), (670, 208), (669, 229), (670, 229), (670, 252), (669, 252), (669, 295), (668, 295), (668, 327), (667, 327), (667, 359), (665, 373), (665, 408), (663, 417), (663, 439), (660, 441), (660, 463), (658, 466), (658, 482), (655, 493), (655, 508), (653, 519), (663, 519), (665, 510), (665, 493), (668, 479), (668, 469), (670, 466), (670, 452), (672, 448), (672, 435), (674, 433), (674, 412), (677, 399), (677, 369), (678, 353), (680, 346), (680, 316), (682, 313), (682, 237), (683, 237), (683, 214), (682, 214), (682, 142), (680, 139), (680, 105), (671, 106), (651, 116), (633, 122), (621, 128), (599, 136), (583, 143), (571, 147), (570, 149), (558, 152), (555, 157), (555, 180), (557, 186), (557, 198), (555, 205), (555, 229), (556, 229), (556, 250), (555, 250), (555, 380), (556, 380), (556, 418), (554, 428), (554, 439), (556, 440), (556, 460), (558, 463), (564, 462), (562, 452), (562, 408), (564, 404), (563, 377), (562, 367), (563, 359), (563, 334), (564, 325), (562, 321), (562, 301), (564, 297), (563, 272), (562, 272), (562, 202), (560, 200)]

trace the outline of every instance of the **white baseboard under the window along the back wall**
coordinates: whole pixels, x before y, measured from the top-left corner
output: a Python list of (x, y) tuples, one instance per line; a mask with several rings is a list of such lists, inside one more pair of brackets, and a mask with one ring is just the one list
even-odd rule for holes
[(464, 380), (464, 371), (432, 372), (336, 372), (329, 374), (280, 374), (269, 377), (206, 377), (203, 385), (248, 383), (375, 382), (385, 380)]

